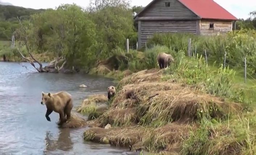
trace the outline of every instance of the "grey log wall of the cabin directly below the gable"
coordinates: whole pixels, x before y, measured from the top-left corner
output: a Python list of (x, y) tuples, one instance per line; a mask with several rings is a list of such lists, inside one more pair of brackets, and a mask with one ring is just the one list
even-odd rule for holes
[(197, 20), (184, 21), (139, 21), (138, 44), (139, 48), (144, 46), (146, 41), (155, 33), (185, 32), (197, 33)]

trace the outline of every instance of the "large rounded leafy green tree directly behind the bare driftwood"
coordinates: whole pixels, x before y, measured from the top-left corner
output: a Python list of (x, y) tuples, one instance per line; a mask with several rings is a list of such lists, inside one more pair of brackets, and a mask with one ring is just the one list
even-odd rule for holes
[[(37, 53), (50, 52), (56, 57), (56, 65), (60, 58), (65, 58), (66, 68), (74, 69), (90, 66), (96, 59), (96, 26), (88, 13), (75, 4), (60, 5), (56, 10), (34, 14), (29, 25), (26, 34), (19, 33), (27, 36), (29, 49)], [(57, 67), (51, 72), (58, 71)]]

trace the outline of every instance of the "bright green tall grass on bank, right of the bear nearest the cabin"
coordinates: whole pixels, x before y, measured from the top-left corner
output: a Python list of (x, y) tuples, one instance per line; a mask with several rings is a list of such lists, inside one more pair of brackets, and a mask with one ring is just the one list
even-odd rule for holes
[(198, 54), (193, 58), (185, 56), (184, 51), (180, 50), (175, 55), (175, 63), (165, 70), (163, 80), (175, 77), (188, 85), (204, 89), (207, 93), (219, 97), (233, 98), (237, 101), (237, 94), (234, 93), (233, 80), (235, 71), (219, 66), (218, 70), (208, 67), (205, 59)]

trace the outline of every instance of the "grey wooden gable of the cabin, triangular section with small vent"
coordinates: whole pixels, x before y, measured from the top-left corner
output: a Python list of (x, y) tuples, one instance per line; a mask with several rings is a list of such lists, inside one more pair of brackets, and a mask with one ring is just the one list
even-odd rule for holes
[[(165, 7), (165, 2), (170, 2)], [(197, 19), (197, 15), (177, 0), (158, 0), (151, 4), (137, 19)]]

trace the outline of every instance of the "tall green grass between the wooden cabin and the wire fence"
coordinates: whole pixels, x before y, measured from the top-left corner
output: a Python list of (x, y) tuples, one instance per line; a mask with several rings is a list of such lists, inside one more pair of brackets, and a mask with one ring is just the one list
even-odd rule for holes
[(192, 39), (193, 51), (210, 57), (210, 61), (223, 63), (226, 52), (226, 62), (230, 66), (243, 66), (244, 57), (247, 58), (247, 67), (253, 73), (256, 70), (256, 30), (240, 30), (229, 32), (226, 35), (198, 36), (192, 34), (165, 33), (155, 34), (148, 45), (165, 45), (176, 52), (188, 49), (188, 39)]

